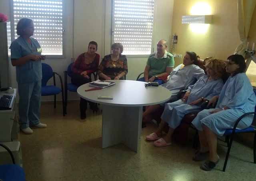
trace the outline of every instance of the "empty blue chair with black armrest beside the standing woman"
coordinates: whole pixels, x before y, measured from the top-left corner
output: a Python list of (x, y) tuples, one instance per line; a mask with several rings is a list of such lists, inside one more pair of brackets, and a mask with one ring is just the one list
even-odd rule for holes
[[(60, 84), (61, 84), (61, 89), (56, 87), (56, 79), (55, 75), (57, 75), (60, 79)], [(53, 86), (47, 86), (47, 82), (50, 80), (50, 78), (53, 77)], [(56, 108), (56, 95), (61, 93), (62, 94), (62, 111), (63, 111), (63, 116), (65, 116), (65, 102), (64, 102), (64, 89), (63, 89), (63, 82), (62, 78), (59, 74), (56, 72), (52, 71), (51, 66), (48, 64), (42, 63), (42, 96), (47, 96), (47, 95), (54, 95), (54, 108)]]

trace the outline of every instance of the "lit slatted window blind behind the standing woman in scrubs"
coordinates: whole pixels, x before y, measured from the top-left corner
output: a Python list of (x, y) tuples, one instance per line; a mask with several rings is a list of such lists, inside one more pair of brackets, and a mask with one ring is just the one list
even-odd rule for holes
[[(34, 22), (34, 36), (42, 54), (62, 55), (62, 2), (63, 0), (13, 0), (14, 27), (21, 18)], [(15, 38), (18, 35), (15, 33)]]

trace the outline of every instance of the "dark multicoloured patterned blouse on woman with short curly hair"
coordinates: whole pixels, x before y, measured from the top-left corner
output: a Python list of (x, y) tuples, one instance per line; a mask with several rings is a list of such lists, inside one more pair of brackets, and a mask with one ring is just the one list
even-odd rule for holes
[(126, 56), (122, 54), (120, 54), (117, 61), (111, 59), (111, 54), (106, 55), (98, 68), (98, 75), (103, 73), (112, 80), (122, 72), (124, 72), (125, 75), (128, 73), (127, 59)]

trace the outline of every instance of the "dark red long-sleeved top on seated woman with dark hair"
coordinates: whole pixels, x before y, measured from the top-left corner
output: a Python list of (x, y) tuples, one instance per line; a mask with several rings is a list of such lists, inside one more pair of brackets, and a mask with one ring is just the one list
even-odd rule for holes
[(72, 72), (74, 74), (81, 74), (81, 72), (86, 71), (88, 76), (90, 76), (90, 74), (97, 71), (97, 68), (98, 68), (99, 62), (100, 62), (100, 55), (95, 54), (95, 57), (94, 57), (94, 60), (92, 61), (92, 63), (86, 64), (84, 61), (85, 54), (86, 53), (80, 54), (80, 56), (78, 56), (78, 58), (72, 65)]

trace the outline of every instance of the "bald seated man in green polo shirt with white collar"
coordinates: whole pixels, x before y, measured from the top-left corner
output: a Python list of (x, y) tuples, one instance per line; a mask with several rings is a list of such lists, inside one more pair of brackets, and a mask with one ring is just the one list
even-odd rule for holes
[(166, 48), (166, 40), (160, 40), (157, 43), (157, 52), (149, 56), (144, 77), (138, 79), (138, 81), (158, 82), (159, 85), (164, 83), (163, 80), (172, 72), (174, 67), (173, 55), (167, 52)]

